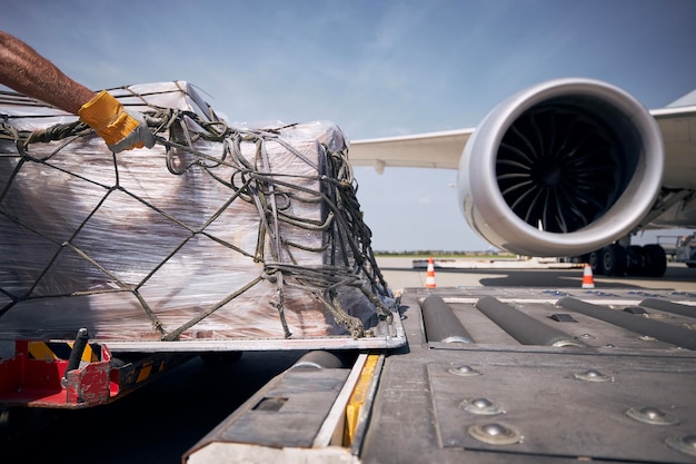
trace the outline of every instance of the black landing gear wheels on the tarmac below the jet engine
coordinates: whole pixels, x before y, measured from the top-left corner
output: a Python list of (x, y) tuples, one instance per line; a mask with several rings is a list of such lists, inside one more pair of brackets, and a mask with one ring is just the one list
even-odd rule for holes
[(656, 244), (624, 247), (612, 244), (586, 256), (593, 274), (662, 277), (667, 270), (665, 249)]

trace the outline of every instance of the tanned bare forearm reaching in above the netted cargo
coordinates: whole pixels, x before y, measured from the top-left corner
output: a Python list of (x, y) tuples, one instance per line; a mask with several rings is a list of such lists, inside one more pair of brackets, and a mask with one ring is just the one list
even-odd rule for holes
[(2, 31), (0, 83), (73, 115), (96, 95), (70, 79), (31, 47)]

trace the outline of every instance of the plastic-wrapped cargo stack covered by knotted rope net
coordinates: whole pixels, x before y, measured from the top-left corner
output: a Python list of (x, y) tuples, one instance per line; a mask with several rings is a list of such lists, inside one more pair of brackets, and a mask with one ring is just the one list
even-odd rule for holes
[(0, 105), (0, 338), (374, 335), (394, 299), (347, 142), (328, 122), (231, 127), (186, 82), (110, 90), (152, 149)]

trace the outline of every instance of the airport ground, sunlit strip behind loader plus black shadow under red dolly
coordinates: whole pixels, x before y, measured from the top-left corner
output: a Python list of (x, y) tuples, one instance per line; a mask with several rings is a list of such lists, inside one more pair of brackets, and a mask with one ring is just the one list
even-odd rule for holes
[[(424, 287), (409, 258), (378, 258), (389, 285)], [(436, 286), (581, 287), (583, 268), (436, 269)], [(670, 264), (663, 278), (594, 276), (596, 288), (696, 293), (696, 269)], [(274, 376), (305, 353), (245, 353), (235, 363), (197, 357), (160, 381), (105, 406), (0, 414), (0, 461), (29, 463), (180, 463), (181, 456)], [(2, 424), (4, 422), (4, 424)]]

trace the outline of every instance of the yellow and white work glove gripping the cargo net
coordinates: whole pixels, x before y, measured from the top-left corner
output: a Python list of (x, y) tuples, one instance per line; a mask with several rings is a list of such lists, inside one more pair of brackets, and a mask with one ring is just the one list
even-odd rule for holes
[(95, 129), (115, 154), (143, 146), (152, 148), (155, 145), (155, 136), (148, 129), (142, 115), (126, 110), (106, 90), (82, 105), (78, 115), (82, 122)]

